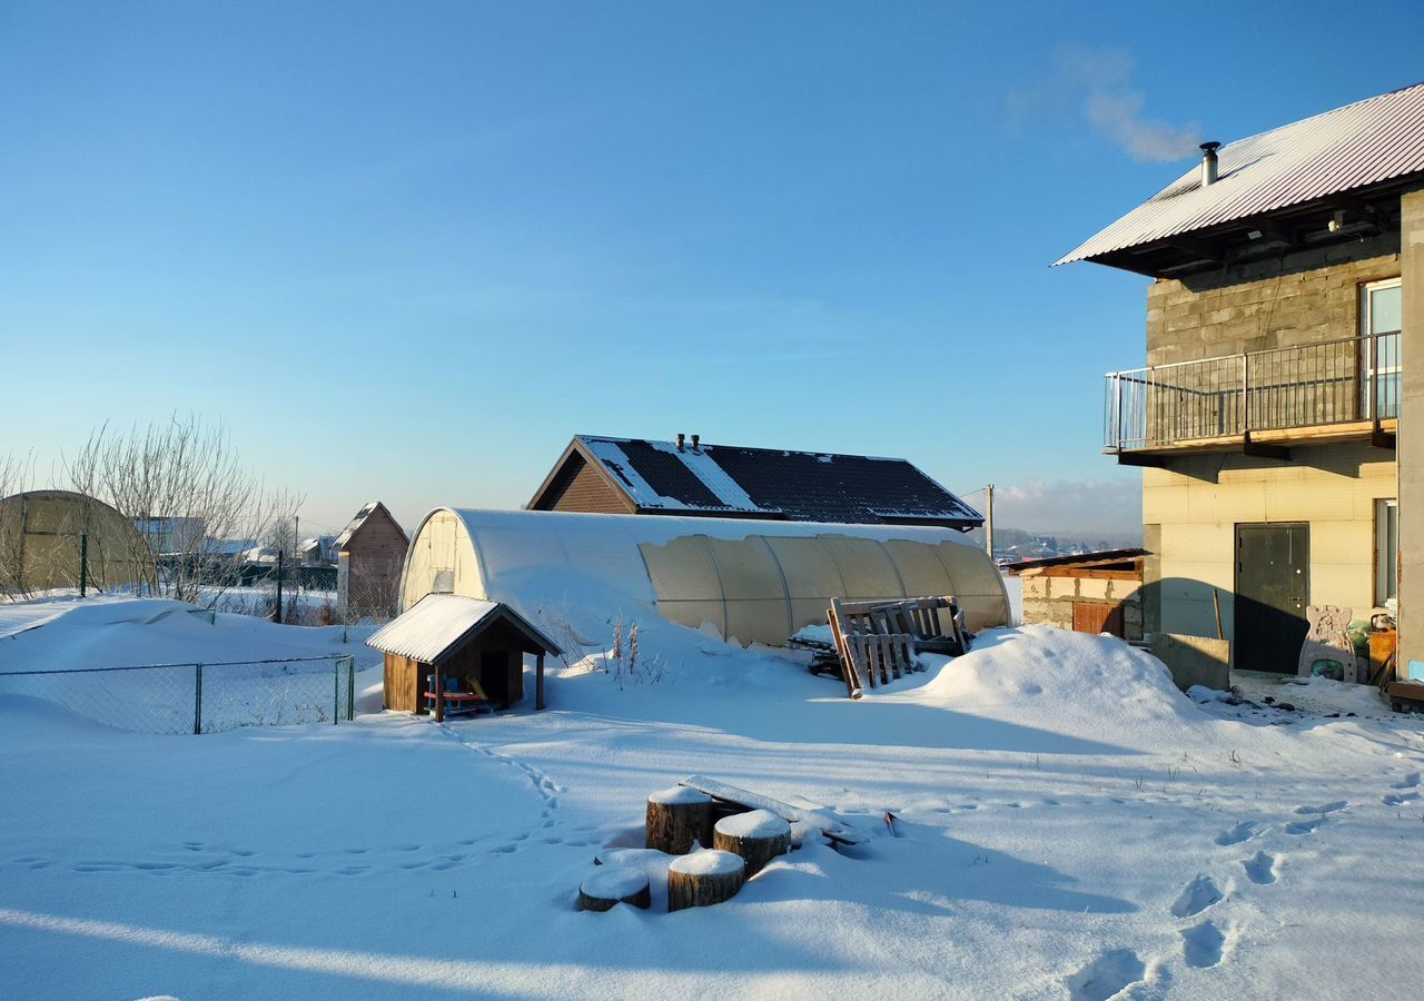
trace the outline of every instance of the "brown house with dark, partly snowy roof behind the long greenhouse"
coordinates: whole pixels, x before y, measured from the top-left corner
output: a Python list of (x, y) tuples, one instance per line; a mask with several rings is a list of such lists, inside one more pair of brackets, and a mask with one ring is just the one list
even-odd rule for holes
[(938, 525), (984, 518), (903, 458), (578, 434), (531, 511)]

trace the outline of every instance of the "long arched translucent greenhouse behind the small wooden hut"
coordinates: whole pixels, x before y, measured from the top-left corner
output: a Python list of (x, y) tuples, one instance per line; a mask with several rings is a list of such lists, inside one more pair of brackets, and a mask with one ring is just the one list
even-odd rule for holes
[(749, 645), (824, 624), (832, 598), (954, 595), (970, 629), (1010, 624), (998, 570), (950, 528), (436, 508), (406, 555), (402, 611), (431, 592), (540, 621), (644, 609)]

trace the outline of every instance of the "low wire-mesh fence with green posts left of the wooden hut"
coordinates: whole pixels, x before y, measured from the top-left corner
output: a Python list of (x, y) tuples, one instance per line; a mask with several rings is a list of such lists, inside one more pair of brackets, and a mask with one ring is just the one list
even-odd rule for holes
[(342, 655), (9, 671), (0, 695), (26, 695), (140, 733), (340, 723), (356, 715), (356, 658)]

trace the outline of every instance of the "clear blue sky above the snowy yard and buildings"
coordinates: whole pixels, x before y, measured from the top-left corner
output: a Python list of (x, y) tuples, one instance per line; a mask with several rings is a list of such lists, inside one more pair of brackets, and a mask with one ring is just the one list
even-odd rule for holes
[(199, 412), (319, 527), (698, 431), (1131, 530), (1146, 279), (1048, 265), (1424, 78), (1424, 3), (1351, 10), (0, 0), (0, 456)]

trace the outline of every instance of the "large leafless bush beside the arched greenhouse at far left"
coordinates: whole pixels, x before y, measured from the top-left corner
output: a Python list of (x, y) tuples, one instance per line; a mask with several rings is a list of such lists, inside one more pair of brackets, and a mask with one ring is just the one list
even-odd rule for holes
[[(127, 433), (105, 424), (66, 461), (74, 490), (97, 497), (140, 528), (135, 561), (155, 558), (158, 594), (212, 605), (238, 582), (241, 560), (224, 550), (290, 531), (300, 498), (269, 490), (239, 460), (226, 427), (174, 414)], [(290, 538), (288, 534), (286, 538)]]

